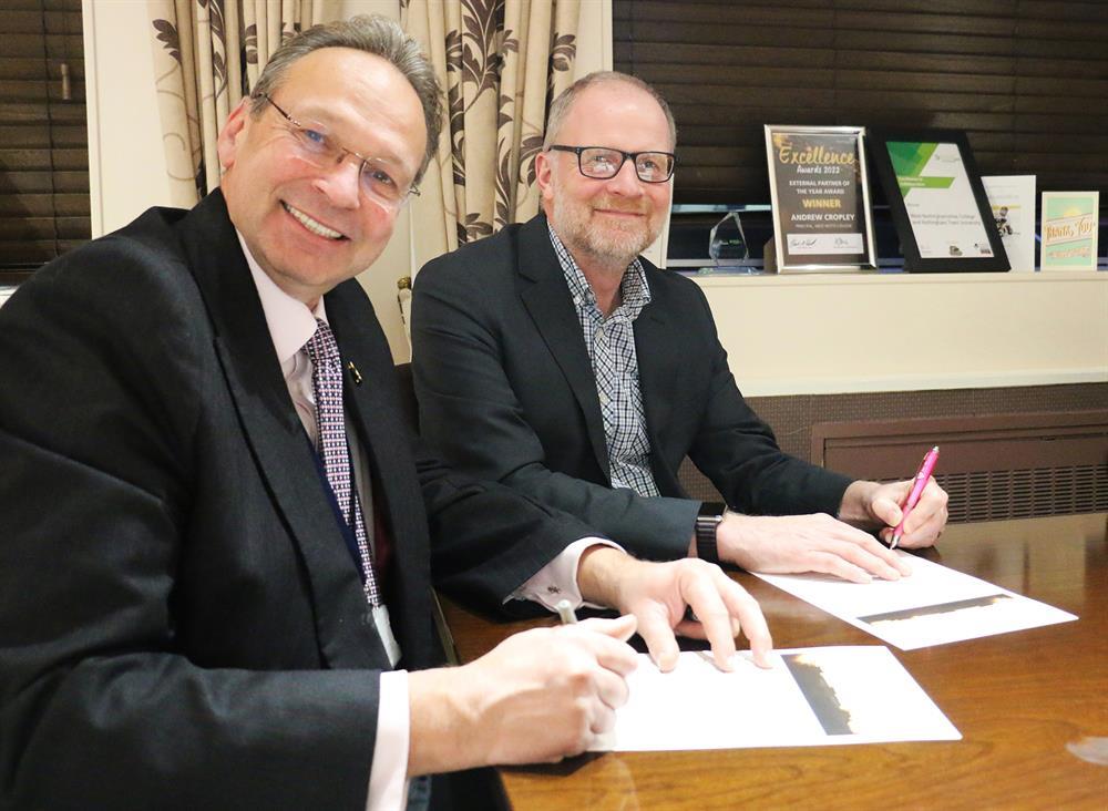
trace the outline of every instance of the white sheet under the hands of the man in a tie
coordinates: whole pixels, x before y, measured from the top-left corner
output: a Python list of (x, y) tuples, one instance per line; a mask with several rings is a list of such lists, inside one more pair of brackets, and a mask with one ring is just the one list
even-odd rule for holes
[(737, 654), (735, 670), (684, 651), (659, 673), (646, 655), (630, 698), (594, 751), (674, 751), (961, 740), (883, 645), (774, 650), (773, 667)]

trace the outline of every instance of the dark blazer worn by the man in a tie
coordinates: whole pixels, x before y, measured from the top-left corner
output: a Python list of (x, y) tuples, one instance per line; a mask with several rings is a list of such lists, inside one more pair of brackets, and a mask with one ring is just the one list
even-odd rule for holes
[[(591, 532), (424, 453), (360, 286), (326, 304), (400, 666), (437, 665), (432, 567), (495, 607)], [(0, 807), (365, 807), (389, 665), (218, 192), (0, 309)]]

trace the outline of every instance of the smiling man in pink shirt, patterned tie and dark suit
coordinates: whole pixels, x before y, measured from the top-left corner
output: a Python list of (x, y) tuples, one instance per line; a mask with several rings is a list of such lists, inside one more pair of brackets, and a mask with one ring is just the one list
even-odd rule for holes
[[(730, 669), (740, 626), (768, 664), (718, 567), (636, 561), (406, 424), (353, 276), (440, 120), (399, 25), (314, 28), (229, 116), (220, 189), (0, 309), (0, 808), (488, 808), (486, 773), (441, 776), (587, 749), (636, 629), (666, 669), (675, 632)], [(440, 667), (432, 571), (490, 612), (624, 616)]]

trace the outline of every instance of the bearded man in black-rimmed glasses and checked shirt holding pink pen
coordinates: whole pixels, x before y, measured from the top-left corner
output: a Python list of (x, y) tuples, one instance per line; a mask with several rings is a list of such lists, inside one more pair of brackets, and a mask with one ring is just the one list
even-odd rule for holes
[[(675, 144), (669, 106), (634, 76), (591, 74), (555, 100), (535, 158), (542, 213), (417, 276), (423, 438), (642, 557), (907, 574), (870, 531), (891, 535), (911, 482), (851, 481), (782, 453), (736, 387), (700, 288), (639, 257), (665, 222)], [(688, 497), (686, 456), (729, 509)], [(934, 543), (945, 521), (932, 480), (901, 545)]]

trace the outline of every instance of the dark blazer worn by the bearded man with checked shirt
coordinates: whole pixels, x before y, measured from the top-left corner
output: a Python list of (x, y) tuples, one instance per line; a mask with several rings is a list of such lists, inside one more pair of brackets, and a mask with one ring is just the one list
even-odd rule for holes
[(707, 299), (644, 260), (635, 321), (650, 466), (664, 497), (613, 490), (601, 406), (542, 214), (430, 261), (412, 301), (420, 432), (461, 470), (577, 515), (650, 558), (684, 556), (688, 455), (745, 513), (834, 514), (850, 480), (780, 451), (735, 384)]

